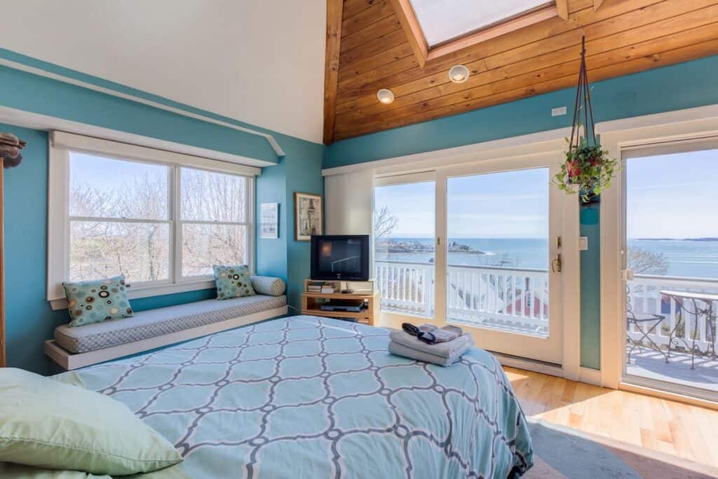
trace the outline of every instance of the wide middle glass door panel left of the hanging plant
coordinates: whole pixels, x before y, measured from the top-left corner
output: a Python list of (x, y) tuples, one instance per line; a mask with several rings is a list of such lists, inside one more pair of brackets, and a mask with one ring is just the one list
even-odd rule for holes
[(480, 329), (482, 348), (561, 363), (550, 179), (549, 167), (447, 177), (445, 309), (447, 322)]

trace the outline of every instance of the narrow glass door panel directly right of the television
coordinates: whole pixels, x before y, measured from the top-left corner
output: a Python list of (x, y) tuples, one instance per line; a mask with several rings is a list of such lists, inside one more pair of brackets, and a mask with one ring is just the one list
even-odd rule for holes
[(436, 182), (374, 188), (374, 276), (382, 312), (434, 317)]

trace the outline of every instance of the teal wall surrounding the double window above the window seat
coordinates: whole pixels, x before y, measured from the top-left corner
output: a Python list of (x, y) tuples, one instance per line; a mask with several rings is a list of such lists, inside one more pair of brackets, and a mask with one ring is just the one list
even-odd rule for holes
[[(299, 278), (304, 279), (303, 276), (308, 274), (309, 247), (305, 243), (296, 244), (294, 241), (292, 223), (290, 223), (293, 220), (292, 195), (293, 189), (322, 192), (321, 164), (325, 148), (323, 145), (244, 124), (101, 78), (39, 62), (8, 50), (0, 50), (0, 57), (272, 134), (286, 153), (283, 157), (277, 157), (274, 149), (271, 149), (266, 139), (261, 136), (20, 70), (0, 67), (0, 106), (276, 163), (276, 166), (264, 168), (262, 175), (257, 179), (256, 206), (258, 209), (260, 203), (280, 203), (281, 238), (257, 240), (256, 271), (259, 274), (271, 274), (285, 280), (289, 279), (292, 303), (299, 306), (297, 292), (302, 287)], [(43, 341), (52, 338), (52, 330), (55, 326), (67, 322), (67, 312), (53, 312), (45, 299), (47, 297), (47, 132), (10, 125), (0, 125), (0, 131), (14, 133), (28, 143), (23, 153), (22, 164), (15, 169), (6, 170), (4, 184), (7, 360), (9, 366), (49, 373), (52, 368), (42, 351)], [(132, 305), (134, 310), (142, 311), (212, 297), (215, 297), (215, 290), (205, 289), (134, 299)]]

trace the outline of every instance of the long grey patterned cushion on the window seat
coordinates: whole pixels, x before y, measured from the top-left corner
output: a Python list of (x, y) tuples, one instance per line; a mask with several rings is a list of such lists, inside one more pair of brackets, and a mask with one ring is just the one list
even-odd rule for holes
[(231, 320), (286, 305), (286, 296), (207, 299), (157, 310), (135, 312), (134, 317), (108, 320), (81, 327), (55, 328), (55, 341), (71, 353), (87, 353), (111, 346), (167, 335), (192, 327)]

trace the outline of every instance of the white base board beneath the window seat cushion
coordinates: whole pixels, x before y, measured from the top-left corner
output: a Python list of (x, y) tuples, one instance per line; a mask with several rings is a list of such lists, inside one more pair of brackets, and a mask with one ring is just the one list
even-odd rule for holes
[(235, 317), (230, 320), (213, 322), (210, 325), (192, 327), (188, 330), (182, 330), (172, 332), (168, 335), (156, 336), (154, 338), (147, 338), (134, 343), (126, 343), (110, 348), (102, 348), (95, 351), (88, 351), (87, 353), (70, 353), (55, 343), (55, 340), (45, 341), (45, 354), (50, 356), (52, 361), (55, 361), (60, 367), (65, 368), (67, 371), (84, 368), (85, 366), (91, 366), (93, 364), (104, 363), (112, 359), (123, 358), (137, 353), (143, 353), (163, 346), (169, 346), (175, 343), (182, 343), (190, 339), (201, 338), (202, 336), (210, 335), (215, 332), (221, 332), (233, 329), (235, 327), (245, 326), (252, 324), (253, 322), (259, 322), (269, 320), (273, 317), (283, 316), (287, 313), (287, 307), (278, 307), (273, 310), (267, 310), (262, 312), (256, 312), (252, 315), (246, 315), (241, 317)]

